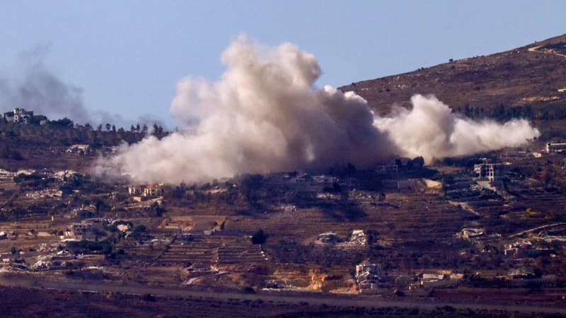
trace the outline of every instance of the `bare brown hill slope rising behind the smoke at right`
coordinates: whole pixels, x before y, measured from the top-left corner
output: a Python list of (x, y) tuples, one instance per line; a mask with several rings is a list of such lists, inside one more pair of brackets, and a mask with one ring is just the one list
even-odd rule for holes
[(470, 117), (566, 120), (566, 35), (340, 89), (353, 90), (379, 114), (393, 104), (410, 107), (410, 97), (420, 93)]

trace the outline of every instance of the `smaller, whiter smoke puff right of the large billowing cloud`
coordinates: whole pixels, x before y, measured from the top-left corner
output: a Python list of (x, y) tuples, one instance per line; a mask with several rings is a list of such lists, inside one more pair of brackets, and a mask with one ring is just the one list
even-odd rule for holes
[(395, 107), (387, 117), (376, 117), (374, 125), (387, 131), (400, 149), (399, 155), (425, 163), (459, 155), (470, 155), (505, 147), (521, 146), (540, 136), (525, 119), (504, 124), (459, 117), (434, 96), (414, 95), (412, 110)]

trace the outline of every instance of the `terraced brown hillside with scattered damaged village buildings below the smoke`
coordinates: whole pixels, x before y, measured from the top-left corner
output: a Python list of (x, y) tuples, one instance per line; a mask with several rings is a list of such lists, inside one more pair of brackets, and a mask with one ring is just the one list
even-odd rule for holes
[(0, 149), (0, 267), (14, 275), (387, 297), (565, 284), (560, 140), (426, 166), (140, 184), (90, 170), (139, 129), (36, 119), (0, 119), (1, 138), (20, 144)]

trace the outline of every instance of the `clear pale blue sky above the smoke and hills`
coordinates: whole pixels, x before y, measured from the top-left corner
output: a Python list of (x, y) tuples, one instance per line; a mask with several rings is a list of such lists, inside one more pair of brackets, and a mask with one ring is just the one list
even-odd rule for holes
[[(0, 76), (21, 52), (83, 88), (89, 110), (172, 124), (184, 76), (216, 79), (247, 33), (318, 58), (318, 86), (340, 86), (527, 45), (566, 33), (566, 1), (0, 1)], [(4, 74), (3, 74), (4, 73)], [(10, 73), (11, 75), (6, 75)], [(17, 76), (17, 74), (16, 74)]]

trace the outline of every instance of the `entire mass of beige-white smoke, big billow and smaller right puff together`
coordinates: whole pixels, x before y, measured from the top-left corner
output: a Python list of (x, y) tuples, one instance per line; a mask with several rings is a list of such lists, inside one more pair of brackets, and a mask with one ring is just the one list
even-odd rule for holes
[(333, 163), (369, 165), (395, 154), (430, 160), (538, 136), (526, 122), (459, 119), (436, 98), (420, 95), (413, 98), (412, 111), (374, 117), (355, 93), (316, 88), (316, 58), (290, 43), (263, 47), (241, 35), (221, 61), (226, 71), (219, 81), (178, 83), (171, 111), (185, 130), (124, 145), (114, 157), (98, 160), (96, 172), (143, 182), (199, 183)]

